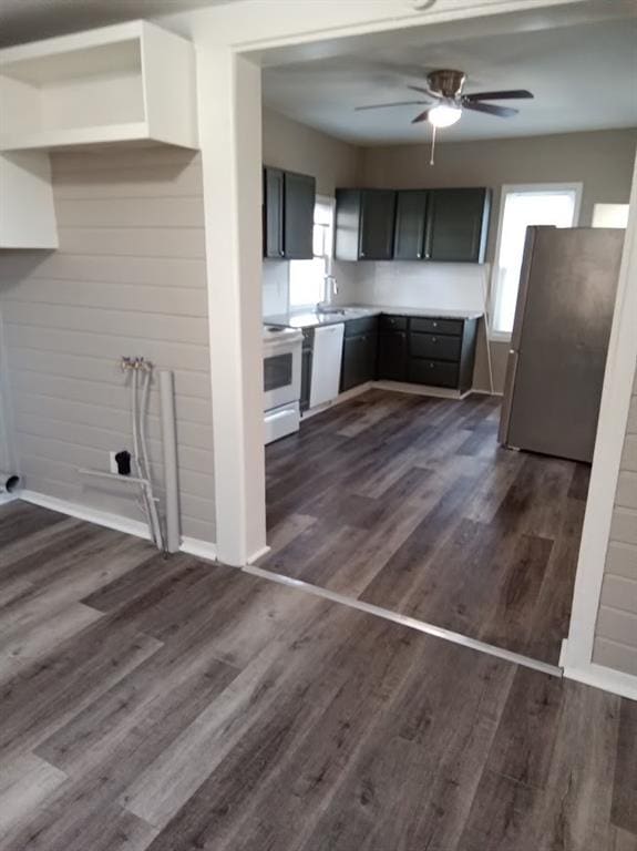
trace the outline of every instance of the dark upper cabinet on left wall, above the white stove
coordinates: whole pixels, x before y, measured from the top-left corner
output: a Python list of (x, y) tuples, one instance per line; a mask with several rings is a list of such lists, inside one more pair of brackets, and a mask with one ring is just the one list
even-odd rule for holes
[(311, 260), (316, 181), (264, 168), (264, 257)]

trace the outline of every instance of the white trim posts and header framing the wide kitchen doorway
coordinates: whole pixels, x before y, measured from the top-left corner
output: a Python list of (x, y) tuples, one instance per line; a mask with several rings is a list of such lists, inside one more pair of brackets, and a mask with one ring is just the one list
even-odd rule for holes
[[(199, 126), (204, 163), (206, 257), (208, 268), (209, 337), (214, 409), (214, 454), (219, 557), (245, 565), (266, 546), (265, 453), (260, 441), (260, 93), (259, 53), (271, 48), (318, 48), (317, 42), (367, 37), (440, 23), (507, 20), (512, 13), (546, 18), (555, 25), (626, 14), (593, 8), (587, 0), (438, 0), (418, 9), (408, 0), (378, 0), (370, 8), (357, 0), (316, 4), (308, 16), (300, 3), (246, 0), (168, 17), (165, 23), (189, 35), (197, 49)], [(624, 11), (623, 11), (624, 10)], [(205, 90), (204, 90), (205, 86)], [(205, 96), (204, 96), (205, 95)], [(218, 101), (216, 100), (218, 95)], [(217, 162), (218, 161), (218, 162)], [(207, 176), (206, 176), (207, 175)], [(630, 217), (618, 287), (610, 349), (604, 382), (603, 412), (596, 441), (589, 504), (576, 576), (566, 676), (592, 676), (592, 647), (604, 558), (627, 419), (637, 336), (629, 317), (637, 310), (637, 189), (633, 183)], [(222, 293), (220, 288), (227, 288)], [(254, 336), (254, 339), (253, 339)], [(260, 441), (260, 444), (259, 444)], [(616, 445), (614, 445), (614, 443)], [(625, 676), (617, 685), (608, 671), (610, 690), (635, 687)], [(593, 671), (595, 674), (595, 671)], [(628, 681), (629, 680), (629, 681)], [(602, 683), (598, 683), (602, 685)], [(637, 687), (635, 688), (637, 691)]]

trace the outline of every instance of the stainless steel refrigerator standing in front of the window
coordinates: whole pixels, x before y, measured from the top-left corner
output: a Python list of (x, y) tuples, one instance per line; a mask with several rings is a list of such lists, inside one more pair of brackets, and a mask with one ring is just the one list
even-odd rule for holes
[(624, 233), (527, 228), (502, 444), (593, 460)]

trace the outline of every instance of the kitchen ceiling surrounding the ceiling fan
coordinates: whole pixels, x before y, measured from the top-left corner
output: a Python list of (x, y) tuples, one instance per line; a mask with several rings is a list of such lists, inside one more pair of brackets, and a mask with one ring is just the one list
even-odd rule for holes
[[(407, 73), (402, 68), (407, 65)], [(321, 57), (264, 70), (265, 103), (290, 119), (348, 142), (421, 142), (431, 127), (412, 125), (424, 106), (355, 112), (355, 106), (404, 101), (418, 94), (427, 70), (465, 71), (465, 93), (528, 89), (533, 101), (512, 119), (464, 112), (444, 130), (446, 141), (528, 136), (637, 126), (637, 18), (428, 44), (367, 44), (347, 55)], [(421, 72), (420, 69), (423, 69)]]

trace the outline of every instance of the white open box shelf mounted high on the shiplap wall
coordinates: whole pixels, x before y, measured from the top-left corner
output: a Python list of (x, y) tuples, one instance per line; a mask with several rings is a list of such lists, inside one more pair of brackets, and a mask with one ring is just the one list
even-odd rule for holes
[(146, 21), (0, 51), (0, 151), (197, 147), (191, 42)]

